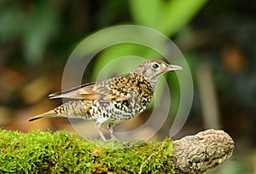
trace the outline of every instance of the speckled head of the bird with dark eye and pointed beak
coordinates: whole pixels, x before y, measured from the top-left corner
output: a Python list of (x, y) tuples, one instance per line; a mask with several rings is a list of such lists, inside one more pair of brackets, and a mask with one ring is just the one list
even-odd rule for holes
[(160, 60), (148, 60), (143, 61), (141, 65), (135, 68), (131, 74), (135, 76), (142, 76), (151, 82), (156, 82), (156, 80), (160, 77), (161, 74), (175, 71), (175, 70), (182, 70), (182, 67), (176, 65), (169, 65), (164, 61)]

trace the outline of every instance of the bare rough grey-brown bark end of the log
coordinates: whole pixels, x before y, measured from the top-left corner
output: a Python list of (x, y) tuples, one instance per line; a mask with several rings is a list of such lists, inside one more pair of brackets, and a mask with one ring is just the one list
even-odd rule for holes
[(201, 131), (174, 141), (173, 155), (177, 173), (202, 173), (229, 159), (234, 141), (224, 131)]

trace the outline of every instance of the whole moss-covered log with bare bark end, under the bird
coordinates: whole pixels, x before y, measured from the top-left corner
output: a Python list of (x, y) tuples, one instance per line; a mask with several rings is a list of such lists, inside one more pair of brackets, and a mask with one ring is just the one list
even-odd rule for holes
[(172, 142), (85, 140), (67, 131), (0, 130), (0, 173), (201, 173), (230, 158), (224, 131)]

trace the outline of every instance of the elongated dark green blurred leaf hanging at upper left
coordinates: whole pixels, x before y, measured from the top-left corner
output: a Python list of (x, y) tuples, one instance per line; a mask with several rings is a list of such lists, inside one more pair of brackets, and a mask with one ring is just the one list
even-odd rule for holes
[(26, 60), (29, 63), (40, 61), (50, 39), (54, 37), (56, 28), (55, 9), (48, 2), (39, 3), (31, 15), (32, 19), (26, 23), (23, 35), (23, 46)]

